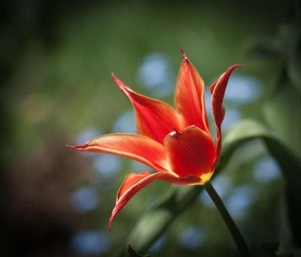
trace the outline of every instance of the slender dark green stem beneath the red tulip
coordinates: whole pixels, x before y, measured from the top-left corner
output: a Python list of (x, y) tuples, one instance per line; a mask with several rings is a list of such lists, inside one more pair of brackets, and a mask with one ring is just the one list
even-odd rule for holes
[(238, 248), (238, 251), (242, 257), (250, 257), (250, 253), (248, 250), (248, 247), (239, 232), (237, 226), (235, 225), (232, 217), (230, 216), (228, 210), (226, 209), (222, 199), (218, 195), (218, 193), (213, 188), (210, 181), (206, 182), (204, 185), (205, 190), (209, 194), (210, 198), (214, 202), (215, 206), (217, 207), (219, 213), (221, 214), (223, 220), (225, 221), (228, 229), (230, 230), (230, 233), (236, 243), (236, 246)]

